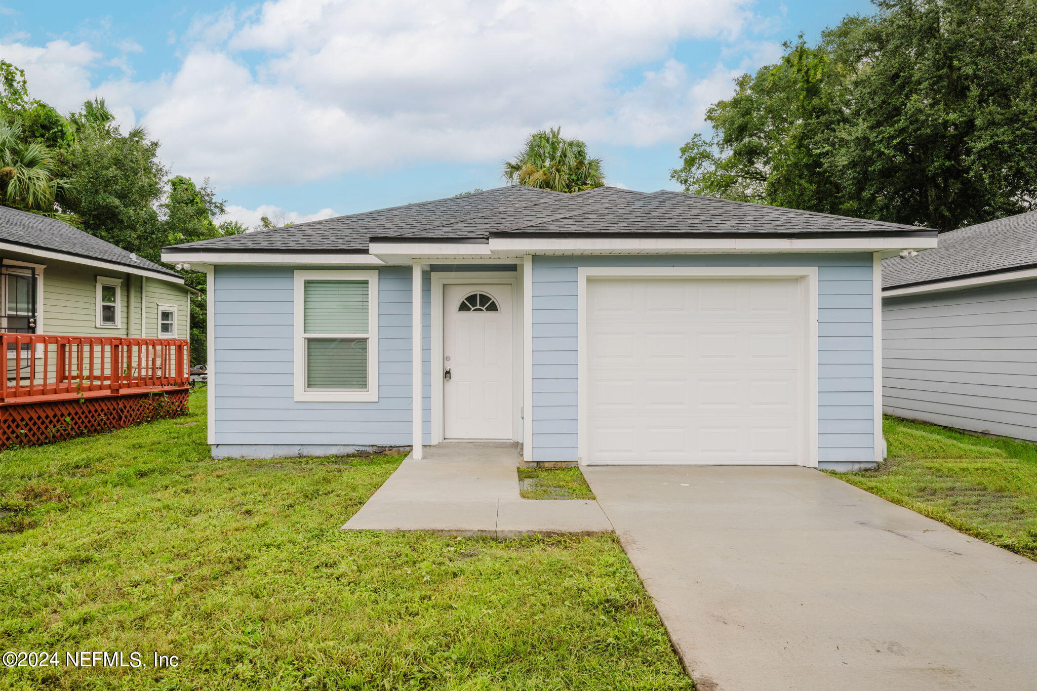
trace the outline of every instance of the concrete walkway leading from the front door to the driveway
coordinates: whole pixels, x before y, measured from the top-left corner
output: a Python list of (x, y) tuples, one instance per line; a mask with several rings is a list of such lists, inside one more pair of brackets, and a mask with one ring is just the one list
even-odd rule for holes
[(458, 441), (429, 447), (420, 461), (408, 456), (342, 529), (497, 538), (612, 530), (596, 501), (522, 498), (518, 462), (513, 443)]

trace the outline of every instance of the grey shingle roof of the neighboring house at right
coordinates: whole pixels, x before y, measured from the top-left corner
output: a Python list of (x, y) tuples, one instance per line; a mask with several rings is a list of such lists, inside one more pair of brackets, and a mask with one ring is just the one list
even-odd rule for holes
[(940, 247), (882, 262), (882, 287), (998, 273), (1037, 264), (1037, 211), (940, 234)]

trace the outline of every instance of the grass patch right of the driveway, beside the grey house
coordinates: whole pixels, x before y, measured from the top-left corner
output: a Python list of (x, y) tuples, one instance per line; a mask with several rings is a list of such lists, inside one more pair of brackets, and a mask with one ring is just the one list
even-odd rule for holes
[(1037, 444), (887, 416), (889, 460), (837, 478), (1037, 559)]

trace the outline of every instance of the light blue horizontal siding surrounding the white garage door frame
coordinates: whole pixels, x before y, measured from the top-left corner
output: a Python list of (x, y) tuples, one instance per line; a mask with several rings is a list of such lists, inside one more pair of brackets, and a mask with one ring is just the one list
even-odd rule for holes
[(534, 461), (574, 461), (581, 266), (817, 266), (819, 460), (874, 459), (872, 255), (533, 258)]

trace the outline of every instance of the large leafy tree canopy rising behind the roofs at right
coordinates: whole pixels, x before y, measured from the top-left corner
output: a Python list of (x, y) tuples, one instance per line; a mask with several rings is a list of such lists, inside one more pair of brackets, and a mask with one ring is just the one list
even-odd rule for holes
[(689, 192), (941, 231), (1037, 204), (1037, 0), (875, 0), (742, 75)]

